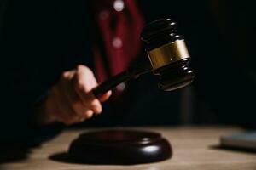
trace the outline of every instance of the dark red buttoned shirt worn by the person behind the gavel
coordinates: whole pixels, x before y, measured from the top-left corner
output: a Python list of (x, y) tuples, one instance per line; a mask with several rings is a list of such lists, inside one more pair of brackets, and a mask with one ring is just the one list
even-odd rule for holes
[(102, 54), (99, 53), (98, 44), (94, 50), (96, 77), (98, 82), (103, 82), (109, 76), (125, 71), (137, 58), (141, 49), (143, 17), (134, 0), (93, 2), (103, 48)]

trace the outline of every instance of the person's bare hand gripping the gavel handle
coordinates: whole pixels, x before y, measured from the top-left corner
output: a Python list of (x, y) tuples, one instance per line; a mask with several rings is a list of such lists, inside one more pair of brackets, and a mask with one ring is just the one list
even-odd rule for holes
[(40, 124), (63, 122), (70, 125), (84, 122), (94, 114), (100, 114), (101, 102), (110, 97), (111, 91), (96, 99), (91, 91), (96, 86), (93, 72), (84, 65), (63, 72), (59, 82), (50, 90), (41, 111), (38, 112), (37, 122)]

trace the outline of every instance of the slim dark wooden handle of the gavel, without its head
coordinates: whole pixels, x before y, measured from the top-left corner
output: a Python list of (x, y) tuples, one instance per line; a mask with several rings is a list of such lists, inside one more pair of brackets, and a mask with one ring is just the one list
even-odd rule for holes
[(139, 77), (141, 74), (145, 74), (151, 71), (151, 69), (151, 65), (148, 64), (130, 67), (126, 71), (120, 72), (119, 74), (110, 77), (105, 82), (102, 82), (100, 85), (92, 90), (92, 93), (96, 96), (96, 98), (99, 98), (102, 94), (108, 92), (108, 90), (111, 90), (119, 85), (119, 83), (126, 82), (133, 77)]

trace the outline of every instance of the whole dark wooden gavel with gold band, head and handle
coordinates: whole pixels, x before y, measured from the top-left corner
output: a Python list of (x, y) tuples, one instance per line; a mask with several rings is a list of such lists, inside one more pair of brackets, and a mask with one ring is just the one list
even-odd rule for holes
[(183, 37), (177, 34), (177, 23), (160, 19), (143, 28), (141, 39), (150, 62), (131, 65), (127, 70), (110, 77), (93, 89), (96, 97), (113, 89), (121, 82), (153, 72), (159, 77), (159, 88), (172, 91), (193, 81), (195, 71), (189, 67), (190, 56)]

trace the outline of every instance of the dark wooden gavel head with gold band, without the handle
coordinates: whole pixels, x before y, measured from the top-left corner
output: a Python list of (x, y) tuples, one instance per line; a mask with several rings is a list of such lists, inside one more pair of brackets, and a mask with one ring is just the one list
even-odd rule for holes
[(143, 28), (145, 44), (154, 75), (160, 76), (159, 87), (166, 91), (183, 88), (193, 81), (195, 71), (189, 67), (190, 56), (177, 24), (171, 19), (155, 20)]

